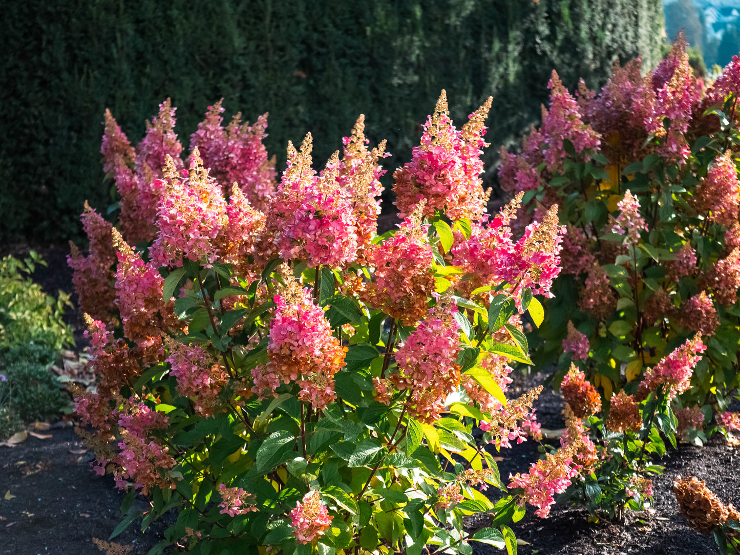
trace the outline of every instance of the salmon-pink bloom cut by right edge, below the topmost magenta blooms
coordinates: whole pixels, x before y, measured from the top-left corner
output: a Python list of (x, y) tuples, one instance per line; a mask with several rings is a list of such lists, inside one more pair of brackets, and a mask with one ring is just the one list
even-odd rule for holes
[(709, 221), (733, 226), (740, 212), (740, 184), (732, 152), (727, 150), (714, 161), (702, 183), (696, 187), (696, 209)]

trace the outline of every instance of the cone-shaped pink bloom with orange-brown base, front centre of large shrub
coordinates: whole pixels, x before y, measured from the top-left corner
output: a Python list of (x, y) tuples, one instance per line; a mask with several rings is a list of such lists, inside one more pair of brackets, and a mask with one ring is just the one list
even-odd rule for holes
[(267, 354), (269, 363), (252, 370), (260, 399), (275, 395), (281, 383), (298, 380), (298, 397), (324, 408), (336, 399), (334, 374), (345, 366), (346, 347), (332, 335), (323, 309), (309, 291), (293, 284), (283, 295), (275, 295), (275, 317), (270, 323)]

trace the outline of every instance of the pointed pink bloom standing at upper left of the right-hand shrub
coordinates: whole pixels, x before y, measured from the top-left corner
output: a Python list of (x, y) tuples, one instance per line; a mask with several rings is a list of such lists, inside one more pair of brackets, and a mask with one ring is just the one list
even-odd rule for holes
[(551, 89), (550, 110), (542, 108), (542, 127), (539, 131), (548, 144), (545, 163), (554, 172), (559, 170), (562, 159), (568, 155), (563, 141), (571, 141), (576, 154), (588, 161), (591, 159), (588, 151), (599, 148), (601, 136), (590, 125), (583, 123), (576, 99), (563, 86), (555, 70), (548, 82), (548, 89)]

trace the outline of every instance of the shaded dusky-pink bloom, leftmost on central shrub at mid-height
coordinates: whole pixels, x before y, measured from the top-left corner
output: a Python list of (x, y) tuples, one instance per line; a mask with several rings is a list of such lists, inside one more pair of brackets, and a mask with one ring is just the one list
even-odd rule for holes
[(79, 299), (79, 308), (95, 320), (113, 323), (116, 314), (115, 289), (110, 283), (116, 258), (112, 226), (90, 208), (87, 201), (81, 219), (90, 240), (90, 252), (83, 256), (70, 242), (71, 254), (67, 257), (67, 264), (73, 270), (72, 283)]

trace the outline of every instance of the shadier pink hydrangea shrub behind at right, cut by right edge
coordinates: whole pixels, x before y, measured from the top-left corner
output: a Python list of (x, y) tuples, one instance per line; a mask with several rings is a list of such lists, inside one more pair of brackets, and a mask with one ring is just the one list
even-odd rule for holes
[(600, 91), (573, 96), (553, 73), (542, 126), (521, 154), (502, 150), (499, 178), (524, 195), (518, 222), (559, 203), (568, 230), (534, 360), (557, 360), (556, 383), (576, 363), (610, 401), (653, 388), (699, 333), (706, 351), (673, 409), (701, 443), (739, 386), (740, 58), (705, 84), (685, 46), (645, 76), (639, 59), (615, 64)]

